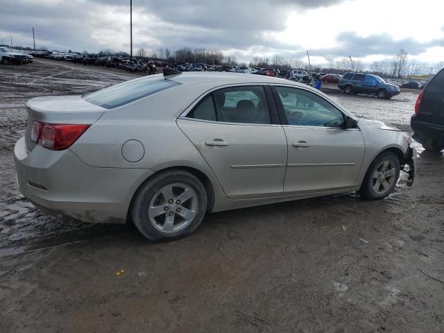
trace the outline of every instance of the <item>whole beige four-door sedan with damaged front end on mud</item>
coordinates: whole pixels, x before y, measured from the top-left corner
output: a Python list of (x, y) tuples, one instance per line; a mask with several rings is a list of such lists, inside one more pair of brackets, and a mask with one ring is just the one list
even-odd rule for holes
[(234, 73), (162, 74), (31, 99), (15, 145), (20, 191), (80, 221), (132, 220), (151, 240), (207, 212), (359, 191), (382, 199), (411, 139), (307, 85)]

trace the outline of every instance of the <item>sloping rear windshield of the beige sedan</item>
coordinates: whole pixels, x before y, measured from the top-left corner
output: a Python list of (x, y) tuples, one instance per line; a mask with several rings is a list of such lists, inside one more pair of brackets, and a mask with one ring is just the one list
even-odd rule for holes
[(180, 83), (164, 78), (139, 78), (92, 92), (84, 95), (83, 99), (102, 108), (112, 109), (176, 85)]

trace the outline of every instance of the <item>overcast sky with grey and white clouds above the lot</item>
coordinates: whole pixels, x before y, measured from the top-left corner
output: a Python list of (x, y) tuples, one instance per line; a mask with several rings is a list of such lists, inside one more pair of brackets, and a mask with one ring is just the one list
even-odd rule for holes
[[(129, 0), (0, 0), (0, 38), (10, 44), (97, 52), (129, 51)], [(221, 49), (327, 63), (364, 62), (400, 49), (444, 60), (442, 0), (133, 0), (133, 52), (143, 47)]]

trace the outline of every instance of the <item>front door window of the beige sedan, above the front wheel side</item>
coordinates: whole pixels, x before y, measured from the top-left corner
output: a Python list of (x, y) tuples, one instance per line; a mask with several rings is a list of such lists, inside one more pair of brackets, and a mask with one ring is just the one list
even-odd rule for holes
[(344, 117), (332, 103), (307, 90), (276, 87), (289, 125), (341, 127)]

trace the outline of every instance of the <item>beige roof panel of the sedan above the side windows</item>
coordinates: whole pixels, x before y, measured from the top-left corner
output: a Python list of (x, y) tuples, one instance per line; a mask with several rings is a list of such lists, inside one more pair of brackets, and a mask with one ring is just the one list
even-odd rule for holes
[(271, 76), (262, 76), (255, 74), (244, 74), (244, 73), (226, 73), (226, 72), (214, 72), (214, 71), (203, 71), (203, 72), (188, 72), (182, 73), (177, 76), (167, 76), (169, 80), (174, 80), (182, 85), (193, 84), (193, 83), (213, 83), (214, 87), (219, 85), (230, 85), (232, 83), (274, 83), (274, 84), (284, 84), (284, 85), (295, 85), (302, 86), (300, 83), (295, 83), (293, 81), (285, 80), (282, 78), (274, 78)]

